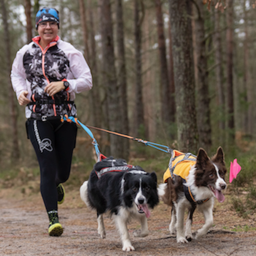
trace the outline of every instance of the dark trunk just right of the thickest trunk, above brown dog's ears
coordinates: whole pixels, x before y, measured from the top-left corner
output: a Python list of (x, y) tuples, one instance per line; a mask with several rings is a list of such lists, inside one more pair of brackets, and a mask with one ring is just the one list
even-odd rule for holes
[(197, 58), (197, 127), (200, 147), (210, 149), (212, 145), (210, 122), (210, 96), (208, 89), (208, 71), (204, 32), (204, 4), (202, 0), (196, 1), (195, 8), (195, 38)]

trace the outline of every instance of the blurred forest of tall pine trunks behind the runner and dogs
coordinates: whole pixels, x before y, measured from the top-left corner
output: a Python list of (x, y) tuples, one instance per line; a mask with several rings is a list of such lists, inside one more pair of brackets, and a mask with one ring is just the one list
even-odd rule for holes
[[(92, 90), (76, 96), (83, 124), (195, 154), (203, 147), (212, 155), (218, 146), (228, 159), (254, 154), (256, 1), (0, 0), (0, 4), (0, 172), (37, 166), (10, 70), (16, 52), (37, 34), (35, 14), (44, 6), (59, 10), (59, 36), (83, 52), (92, 70)], [(160, 158), (161, 172), (167, 167), (168, 154), (127, 138), (92, 132), (105, 155), (129, 161)], [(79, 129), (73, 168), (94, 164), (91, 142)]]

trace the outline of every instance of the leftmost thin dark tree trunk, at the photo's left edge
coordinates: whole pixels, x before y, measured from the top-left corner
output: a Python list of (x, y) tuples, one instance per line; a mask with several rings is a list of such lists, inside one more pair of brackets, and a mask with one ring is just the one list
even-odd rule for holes
[(12, 131), (12, 158), (18, 160), (20, 158), (20, 150), (18, 145), (18, 125), (17, 125), (17, 114), (15, 111), (14, 92), (12, 90), (12, 84), (10, 81), (10, 70), (11, 70), (11, 42), (8, 28), (8, 11), (4, 4), (4, 0), (0, 0), (2, 10), (2, 20), (4, 24), (4, 42), (6, 49), (6, 80), (8, 81), (8, 99), (10, 109), (10, 125)]

